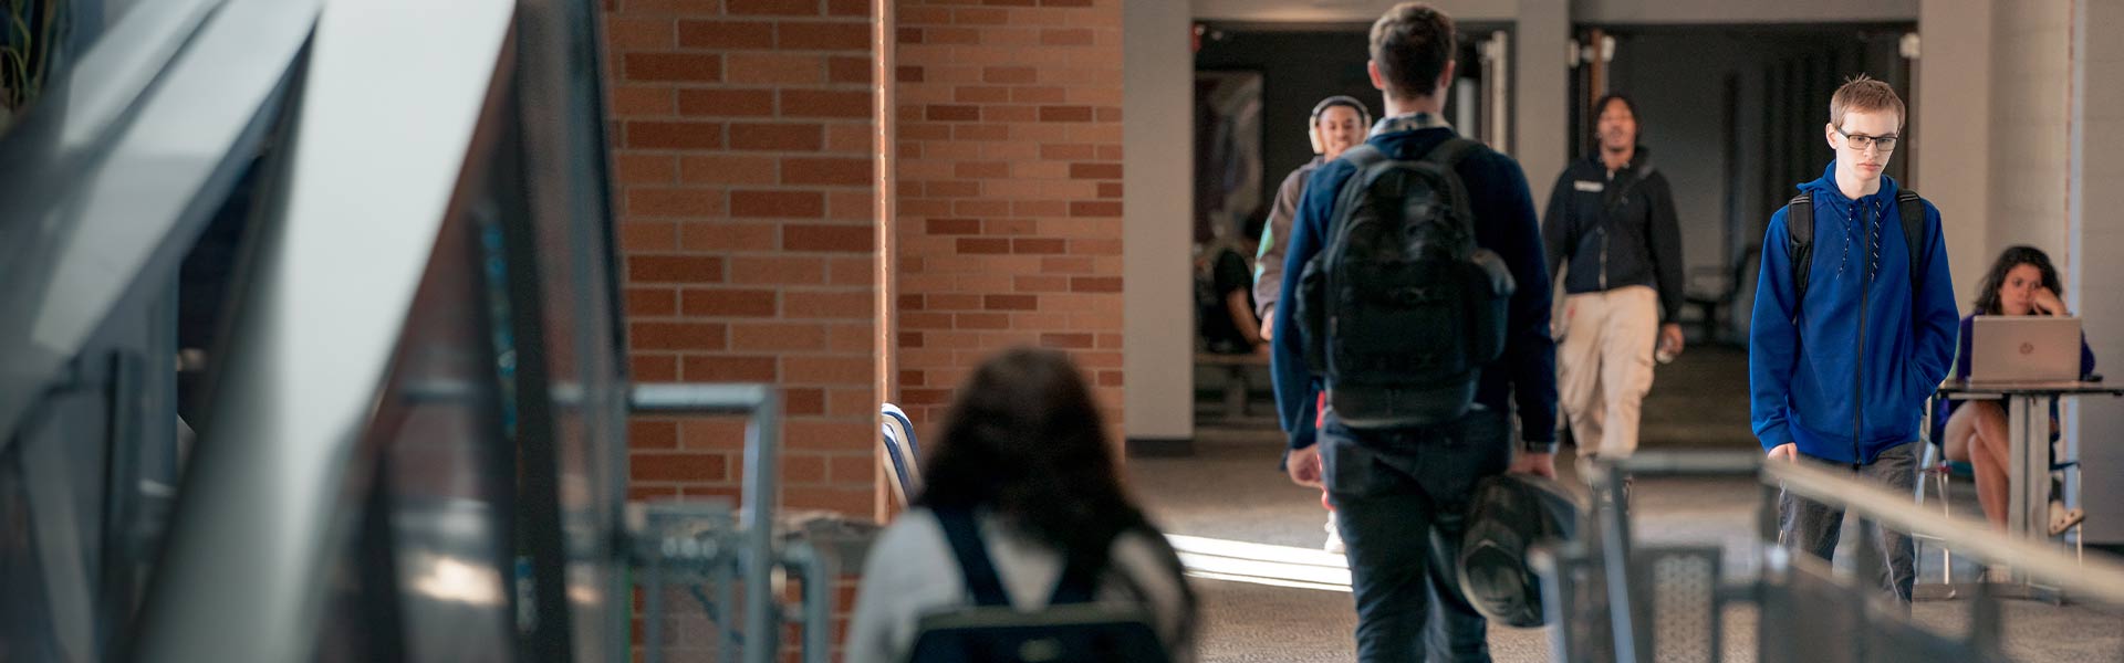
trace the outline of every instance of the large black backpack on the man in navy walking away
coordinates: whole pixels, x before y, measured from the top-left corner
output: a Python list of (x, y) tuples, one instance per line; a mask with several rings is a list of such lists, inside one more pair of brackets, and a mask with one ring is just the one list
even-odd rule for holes
[(1370, 144), (1336, 193), (1336, 217), (1296, 293), (1306, 363), (1349, 427), (1440, 425), (1474, 402), (1483, 366), (1504, 353), (1512, 272), (1474, 244), (1474, 210), (1455, 168), (1480, 142), (1451, 138), (1423, 159)]

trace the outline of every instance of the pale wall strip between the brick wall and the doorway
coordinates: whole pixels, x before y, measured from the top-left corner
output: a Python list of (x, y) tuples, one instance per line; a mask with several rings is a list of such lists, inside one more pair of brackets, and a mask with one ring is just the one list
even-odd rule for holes
[(1124, 436), (1194, 438), (1194, 55), (1187, 0), (1121, 6)]

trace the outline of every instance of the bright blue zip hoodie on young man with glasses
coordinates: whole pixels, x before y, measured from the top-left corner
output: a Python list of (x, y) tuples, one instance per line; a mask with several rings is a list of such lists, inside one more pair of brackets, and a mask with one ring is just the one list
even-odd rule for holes
[(1960, 312), (1939, 208), (1924, 204), (1933, 242), (1920, 257), (1929, 266), (1924, 283), (1912, 295), (1895, 178), (1882, 176), (1880, 191), (1850, 200), (1835, 172), (1831, 162), (1822, 178), (1799, 185), (1814, 196), (1814, 257), (1801, 306), (1793, 306), (1786, 210), (1769, 219), (1763, 236), (1748, 329), (1748, 410), (1765, 450), (1795, 442), (1810, 457), (1871, 463), (1884, 448), (1918, 440), (1924, 400), (1954, 359)]

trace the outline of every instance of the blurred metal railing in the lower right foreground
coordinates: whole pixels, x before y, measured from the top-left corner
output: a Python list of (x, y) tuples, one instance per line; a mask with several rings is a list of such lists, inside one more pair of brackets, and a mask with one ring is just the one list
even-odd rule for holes
[[(1627, 504), (1625, 476), (1757, 476), (1763, 497), (1754, 523), (1761, 536), (1761, 574), (1752, 582), (1731, 584), (1720, 580), (1720, 548), (1635, 546), (1627, 508), (1616, 508)], [(1926, 661), (1941, 654), (2003, 659), (1999, 591), (1980, 586), (1967, 635), (1924, 631), (1871, 586), (1837, 580), (1827, 563), (1778, 546), (1780, 495), (1846, 512), (1865, 533), (1863, 540), (1873, 540), (1880, 527), (1926, 536), (1967, 557), (2011, 563), (2026, 578), (2071, 586), (2075, 597), (2124, 606), (2124, 565), (2116, 561), (2075, 561), (2062, 550), (2005, 538), (1984, 523), (1929, 512), (1907, 493), (1808, 463), (1765, 461), (1759, 453), (1644, 453), (1595, 463), (1587, 478), (1595, 506), (1587, 514), (1591, 527), (1580, 531), (1591, 531), (1591, 538), (1546, 544), (1534, 555), (1534, 565), (1544, 576), (1546, 610), (1557, 620), (1557, 661), (1665, 661), (1678, 648), (1686, 650), (1684, 659), (1716, 661), (1723, 654), (1720, 608), (1729, 604), (1759, 606), (1761, 661)], [(1852, 548), (1858, 550), (1856, 570), (1884, 563), (1871, 544)], [(1684, 572), (1691, 586), (1659, 586), (1676, 570)], [(1678, 606), (1693, 614), (1678, 614)], [(1810, 633), (1829, 631), (1831, 623), (1844, 623), (1846, 629)], [(1669, 633), (1676, 625), (1710, 633)], [(1771, 629), (1780, 633), (1763, 635)]]

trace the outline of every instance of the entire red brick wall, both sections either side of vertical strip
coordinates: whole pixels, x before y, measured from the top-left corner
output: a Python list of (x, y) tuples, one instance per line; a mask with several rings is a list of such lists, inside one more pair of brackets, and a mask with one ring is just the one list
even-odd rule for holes
[[(932, 429), (979, 357), (1062, 346), (1119, 431), (1119, 0), (884, 4), (892, 53), (871, 47), (873, 0), (605, 0), (633, 376), (780, 385), (786, 510), (881, 508), (881, 372)], [(892, 155), (873, 138), (881, 94)], [(741, 429), (637, 416), (633, 497), (735, 499)], [(665, 650), (705, 654), (686, 597), (667, 606)]]

